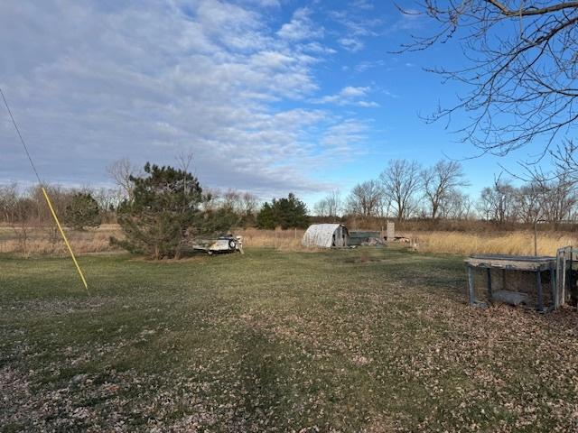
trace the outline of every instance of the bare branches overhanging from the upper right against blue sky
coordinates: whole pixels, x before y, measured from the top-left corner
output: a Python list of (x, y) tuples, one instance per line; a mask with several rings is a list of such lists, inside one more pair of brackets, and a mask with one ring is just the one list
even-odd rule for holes
[(574, 126), (578, 2), (422, 0), (418, 5), (417, 14), (430, 17), (435, 30), (414, 37), (402, 51), (455, 41), (466, 60), (462, 69), (430, 69), (468, 90), (428, 120), (465, 112), (471, 121), (459, 126), (463, 139), (502, 155), (538, 138), (547, 148)]

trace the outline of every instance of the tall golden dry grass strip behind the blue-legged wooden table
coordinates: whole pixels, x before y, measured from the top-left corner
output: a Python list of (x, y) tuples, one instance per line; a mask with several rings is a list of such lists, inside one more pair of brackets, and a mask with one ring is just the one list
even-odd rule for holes
[[(468, 234), (461, 232), (420, 232), (406, 234), (415, 239), (417, 249), (427, 253), (502, 253), (534, 255), (534, 233), (516, 231), (502, 234)], [(538, 233), (537, 252), (555, 255), (561, 246), (578, 244), (578, 237), (569, 233)]]

